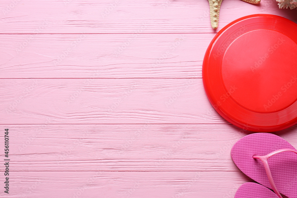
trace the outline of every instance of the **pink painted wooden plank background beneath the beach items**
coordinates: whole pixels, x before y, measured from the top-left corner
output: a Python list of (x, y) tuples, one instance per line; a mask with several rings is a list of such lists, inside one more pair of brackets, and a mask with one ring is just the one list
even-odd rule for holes
[[(0, 132), (9, 129), (11, 160), (0, 197), (227, 198), (250, 181), (230, 158), (247, 132), (208, 102), (203, 56), (239, 17), (297, 22), (297, 10), (224, 0), (215, 31), (206, 0), (1, 0), (0, 9)], [(297, 148), (296, 132), (276, 134)]]

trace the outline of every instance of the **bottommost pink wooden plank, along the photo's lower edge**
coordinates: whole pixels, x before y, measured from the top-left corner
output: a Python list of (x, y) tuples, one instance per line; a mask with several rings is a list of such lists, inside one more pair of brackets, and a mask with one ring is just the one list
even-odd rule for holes
[(241, 172), (12, 172), (9, 197), (234, 197)]

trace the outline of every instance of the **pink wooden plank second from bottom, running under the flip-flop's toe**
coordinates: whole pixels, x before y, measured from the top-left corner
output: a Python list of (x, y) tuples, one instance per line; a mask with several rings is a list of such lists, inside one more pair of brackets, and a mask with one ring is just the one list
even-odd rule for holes
[[(239, 171), (230, 151), (239, 139), (251, 133), (231, 124), (45, 124), (2, 128), (9, 129), (11, 169), (17, 172)], [(297, 148), (296, 132), (297, 126), (293, 126), (277, 134)]]

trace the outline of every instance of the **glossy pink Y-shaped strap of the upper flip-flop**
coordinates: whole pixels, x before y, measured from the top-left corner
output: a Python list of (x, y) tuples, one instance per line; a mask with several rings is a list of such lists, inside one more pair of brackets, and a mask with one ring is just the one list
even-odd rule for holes
[(282, 196), (280, 195), (279, 191), (277, 190), (277, 187), (275, 186), (275, 183), (274, 183), (274, 180), (272, 178), (272, 175), (271, 175), (271, 171), (270, 171), (270, 168), (269, 168), (269, 165), (268, 165), (268, 159), (271, 158), (272, 156), (278, 154), (278, 153), (282, 153), (282, 152), (285, 152), (285, 151), (290, 151), (290, 152), (293, 152), (293, 153), (296, 153), (297, 154), (297, 151), (295, 150), (292, 150), (292, 149), (289, 149), (289, 148), (283, 148), (283, 149), (279, 149), (279, 150), (276, 150), (276, 151), (273, 151), (265, 156), (258, 156), (258, 155), (255, 155), (253, 156), (254, 159), (260, 159), (264, 165), (264, 168), (265, 168), (265, 171), (266, 171), (266, 174), (267, 174), (267, 177), (268, 177), (268, 180), (269, 180), (269, 183), (271, 185), (271, 188), (272, 190), (274, 191), (275, 194), (277, 194), (277, 196), (279, 198), (282, 198)]

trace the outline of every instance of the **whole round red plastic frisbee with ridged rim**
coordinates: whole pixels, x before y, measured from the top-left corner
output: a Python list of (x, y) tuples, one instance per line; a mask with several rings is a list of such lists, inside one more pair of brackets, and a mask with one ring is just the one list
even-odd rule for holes
[(230, 123), (273, 132), (297, 123), (297, 24), (280, 16), (239, 18), (220, 30), (203, 60), (209, 101)]

